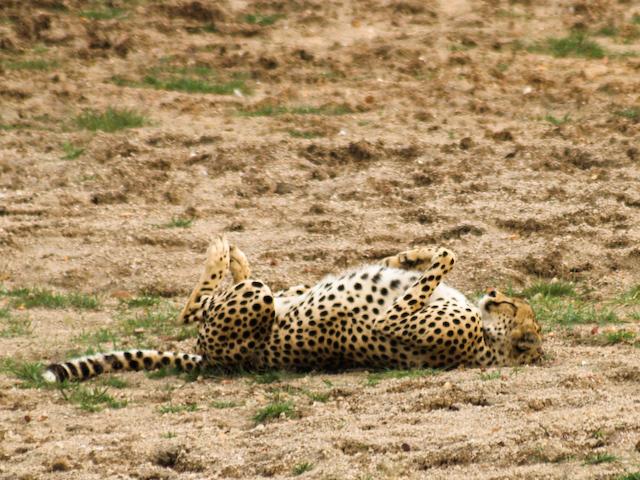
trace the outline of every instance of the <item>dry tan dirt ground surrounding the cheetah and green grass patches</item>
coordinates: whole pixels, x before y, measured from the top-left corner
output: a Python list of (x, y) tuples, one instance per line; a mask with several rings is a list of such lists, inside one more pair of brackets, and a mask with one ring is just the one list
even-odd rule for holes
[[(79, 15), (109, 6), (124, 13)], [(275, 23), (247, 22), (256, 13)], [(33, 333), (0, 339), (2, 357), (64, 358), (78, 331), (112, 324), (114, 294), (178, 305), (221, 231), (274, 288), (437, 243), (457, 252), (450, 282), (465, 292), (555, 277), (594, 301), (619, 294), (640, 271), (640, 123), (619, 114), (640, 105), (638, 40), (596, 37), (603, 59), (520, 47), (631, 28), (634, 14), (622, 0), (0, 1), (0, 279), (103, 298), (98, 312), (29, 310)], [(56, 63), (12, 67), (34, 58)], [(167, 64), (240, 75), (251, 92), (133, 83)], [(74, 127), (109, 106), (149, 122)], [(269, 106), (279, 114), (241, 114)], [(65, 142), (84, 153), (63, 159)], [(178, 217), (193, 223), (162, 228)], [(132, 373), (111, 392), (127, 407), (98, 413), (1, 375), (0, 478), (284, 478), (304, 462), (301, 478), (321, 479), (640, 470), (638, 350), (562, 331), (545, 349), (544, 365), (490, 378), (375, 386), (366, 372), (268, 385)], [(255, 427), (274, 389), (298, 416)], [(160, 414), (169, 401), (199, 409)], [(615, 461), (588, 464), (604, 453)]]

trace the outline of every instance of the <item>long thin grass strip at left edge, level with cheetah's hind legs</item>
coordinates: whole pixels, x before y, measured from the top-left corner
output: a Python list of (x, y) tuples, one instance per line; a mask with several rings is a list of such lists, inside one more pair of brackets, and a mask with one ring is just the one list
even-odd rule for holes
[(78, 292), (55, 293), (42, 288), (1, 289), (0, 296), (11, 298), (12, 307), (96, 310), (100, 306), (100, 301), (95, 295)]

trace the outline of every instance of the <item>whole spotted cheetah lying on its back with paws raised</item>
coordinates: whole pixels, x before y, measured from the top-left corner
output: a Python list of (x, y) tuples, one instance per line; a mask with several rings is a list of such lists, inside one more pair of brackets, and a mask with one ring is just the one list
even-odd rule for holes
[[(474, 306), (442, 282), (455, 263), (445, 248), (388, 257), (313, 287), (272, 294), (251, 279), (245, 255), (224, 237), (179, 315), (197, 322), (196, 355), (156, 350), (97, 354), (50, 365), (51, 382), (163, 366), (337, 370), (520, 365), (542, 356), (529, 304), (491, 290)], [(221, 288), (227, 273), (234, 285)]]

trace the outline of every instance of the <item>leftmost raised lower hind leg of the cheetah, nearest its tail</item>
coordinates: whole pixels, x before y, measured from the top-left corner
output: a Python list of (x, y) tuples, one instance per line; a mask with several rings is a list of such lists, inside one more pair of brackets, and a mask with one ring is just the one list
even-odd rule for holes
[[(191, 323), (202, 320), (208, 303), (213, 298), (216, 289), (220, 286), (225, 274), (229, 271), (230, 252), (229, 242), (224, 236), (214, 238), (207, 250), (207, 259), (204, 262), (204, 270), (195, 288), (189, 295), (186, 305), (178, 315), (178, 322)], [(242, 252), (240, 252), (242, 253)], [(244, 255), (242, 255), (244, 257)], [(240, 258), (237, 256), (237, 259)], [(245, 258), (246, 262), (246, 258)], [(242, 274), (241, 262), (235, 262), (234, 276)], [(248, 268), (248, 265), (247, 265)]]

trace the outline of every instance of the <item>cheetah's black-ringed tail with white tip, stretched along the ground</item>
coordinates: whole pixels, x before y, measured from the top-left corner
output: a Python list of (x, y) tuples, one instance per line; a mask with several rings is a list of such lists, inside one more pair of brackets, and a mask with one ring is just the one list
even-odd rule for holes
[(120, 350), (52, 363), (42, 377), (47, 382), (55, 383), (86, 380), (107, 372), (156, 370), (162, 367), (174, 367), (189, 372), (200, 368), (202, 364), (203, 359), (200, 355), (161, 350)]

